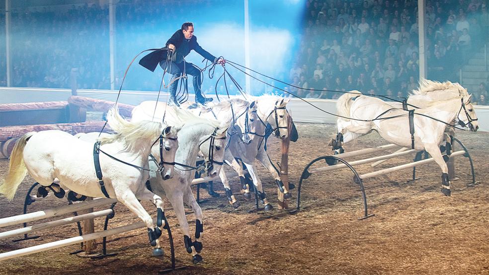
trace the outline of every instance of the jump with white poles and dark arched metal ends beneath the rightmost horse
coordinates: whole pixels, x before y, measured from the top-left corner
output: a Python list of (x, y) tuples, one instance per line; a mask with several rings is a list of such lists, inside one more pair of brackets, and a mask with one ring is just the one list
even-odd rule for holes
[[(458, 140), (457, 138), (453, 138), (454, 141), (456, 141), (461, 147), (462, 150), (459, 151), (454, 151), (451, 153), (450, 158), (452, 159), (455, 156), (464, 156), (469, 159), (470, 166), (471, 166), (471, 173), (472, 173), (472, 183), (469, 185), (474, 185), (476, 183), (476, 178), (475, 178), (475, 172), (474, 172), (474, 164), (472, 161), (472, 158), (469, 154), (469, 151), (467, 150), (467, 147), (464, 146), (464, 144)], [(343, 169), (343, 168), (348, 168), (352, 171), (354, 174), (353, 176), (353, 182), (358, 184), (360, 187), (360, 191), (362, 193), (362, 199), (363, 199), (363, 206), (364, 206), (364, 215), (360, 217), (359, 219), (365, 219), (369, 216), (372, 216), (373, 214), (368, 213), (368, 208), (367, 208), (367, 197), (365, 195), (365, 187), (363, 185), (363, 181), (366, 179), (374, 178), (380, 175), (385, 175), (389, 174), (395, 171), (399, 171), (402, 169), (406, 168), (413, 168), (413, 180), (415, 179), (415, 167), (420, 166), (426, 163), (434, 162), (434, 159), (429, 157), (425, 159), (421, 159), (420, 155), (423, 153), (423, 151), (417, 151), (414, 149), (399, 149), (400, 146), (396, 144), (387, 144), (387, 145), (382, 145), (374, 148), (365, 148), (365, 149), (360, 149), (356, 151), (351, 151), (351, 152), (345, 152), (337, 155), (328, 155), (328, 156), (321, 156), (313, 161), (311, 161), (306, 167), (304, 168), (304, 171), (302, 172), (301, 178), (299, 180), (299, 186), (297, 189), (297, 208), (296, 210), (300, 209), (300, 200), (301, 200), (301, 188), (302, 188), (302, 183), (305, 179), (308, 179), (311, 175), (321, 173), (321, 172), (328, 172), (328, 171), (333, 171), (337, 169)], [(383, 152), (389, 149), (398, 149), (397, 151), (381, 156), (375, 156), (375, 157), (369, 157), (369, 158), (363, 158), (359, 160), (349, 160), (346, 161), (346, 158), (354, 157), (354, 156), (364, 156), (368, 154), (372, 154), (375, 152)], [(395, 157), (400, 157), (400, 156), (405, 156), (408, 154), (413, 154), (417, 152), (417, 156), (414, 159), (414, 162), (412, 163), (406, 163), (390, 168), (385, 168), (382, 170), (374, 171), (374, 172), (369, 172), (365, 174), (360, 174), (353, 166), (356, 165), (361, 165), (361, 164), (367, 164), (367, 163), (373, 163), (371, 165), (372, 167), (375, 167), (377, 164), (381, 163), (381, 161), (385, 161), (388, 159), (392, 159)], [(319, 161), (326, 161), (326, 163), (334, 163), (334, 162), (339, 162), (339, 164), (334, 164), (334, 165), (329, 165), (325, 167), (319, 167), (319, 168), (313, 168), (311, 169), (311, 166), (313, 166), (315, 163)]]

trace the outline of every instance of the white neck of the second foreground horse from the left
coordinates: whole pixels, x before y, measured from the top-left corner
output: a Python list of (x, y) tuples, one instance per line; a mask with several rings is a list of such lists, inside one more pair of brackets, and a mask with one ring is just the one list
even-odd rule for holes
[(195, 158), (199, 153), (200, 139), (212, 133), (214, 127), (208, 124), (189, 124), (183, 126), (178, 132), (178, 149), (175, 154), (175, 162), (195, 165)]

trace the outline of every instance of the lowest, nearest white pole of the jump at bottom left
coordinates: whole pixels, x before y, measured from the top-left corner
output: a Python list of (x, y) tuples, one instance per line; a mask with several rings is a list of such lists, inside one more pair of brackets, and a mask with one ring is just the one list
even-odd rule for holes
[[(153, 223), (155, 223), (155, 222), (156, 222), (156, 219), (153, 219)], [(45, 243), (45, 244), (41, 244), (41, 245), (17, 249), (17, 250), (1, 253), (0, 254), (0, 262), (4, 261), (4, 260), (8, 260), (8, 259), (18, 258), (18, 257), (25, 256), (25, 255), (30, 255), (30, 254), (34, 254), (34, 253), (38, 253), (38, 252), (56, 249), (59, 247), (65, 247), (65, 246), (69, 246), (69, 245), (73, 245), (73, 244), (79, 244), (82, 242), (95, 240), (95, 239), (99, 239), (99, 238), (107, 237), (110, 235), (115, 235), (115, 234), (131, 231), (131, 230), (143, 228), (143, 227), (146, 227), (146, 224), (143, 221), (140, 221), (140, 222), (136, 222), (136, 223), (125, 225), (125, 226), (116, 227), (116, 228), (109, 229), (109, 230), (91, 233), (88, 235), (77, 236), (77, 237), (73, 237), (73, 238), (69, 238), (69, 239), (64, 239), (64, 240)]]

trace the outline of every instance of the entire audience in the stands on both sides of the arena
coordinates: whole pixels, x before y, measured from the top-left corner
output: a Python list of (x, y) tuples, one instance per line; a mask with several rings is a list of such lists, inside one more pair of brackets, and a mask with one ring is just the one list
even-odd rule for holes
[[(417, 0), (306, 0), (305, 5), (303, 35), (294, 66), (288, 73), (277, 71), (274, 75), (300, 88), (284, 89), (305, 98), (335, 99), (341, 93), (327, 90), (357, 89), (396, 97), (406, 96), (417, 87)], [(427, 0), (425, 11), (427, 78), (458, 82), (460, 66), (488, 42), (487, 1)], [(108, 13), (107, 5), (98, 4), (73, 5), (63, 11), (56, 6), (12, 10), (12, 85), (69, 88), (71, 69), (78, 68), (80, 88), (109, 89)], [(197, 13), (197, 9), (186, 10), (180, 1), (167, 5), (119, 1), (116, 86), (135, 48), (146, 49), (147, 41), (160, 45), (164, 40), (160, 37), (162, 25), (172, 22), (174, 28), (174, 22)], [(0, 25), (4, 26), (4, 11), (1, 15)], [(0, 27), (1, 86), (6, 86), (4, 31)], [(223, 84), (217, 86), (219, 93), (225, 93)], [(206, 81), (203, 89), (214, 92), (214, 85), (215, 81)], [(141, 90), (158, 86), (155, 81), (137, 83)], [(487, 104), (488, 86), (481, 83), (473, 101)], [(228, 88), (236, 91), (236, 87)], [(266, 86), (263, 91), (284, 94)]]

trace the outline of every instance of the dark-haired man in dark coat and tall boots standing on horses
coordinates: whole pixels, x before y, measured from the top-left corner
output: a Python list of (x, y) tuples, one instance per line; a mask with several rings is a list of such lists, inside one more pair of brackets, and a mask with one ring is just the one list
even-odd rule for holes
[(191, 50), (196, 51), (205, 59), (211, 62), (217, 62), (223, 64), (225, 62), (222, 58), (216, 58), (208, 53), (206, 50), (200, 47), (197, 43), (197, 37), (194, 36), (194, 27), (192, 22), (186, 22), (182, 24), (181, 29), (177, 30), (166, 42), (166, 48), (171, 51), (169, 57), (171, 60), (166, 61), (166, 58), (160, 62), (160, 66), (163, 70), (172, 74), (169, 92), (170, 98), (168, 104), (180, 106), (176, 99), (176, 88), (178, 86), (178, 76), (181, 73), (190, 74), (193, 76), (193, 87), (195, 91), (195, 101), (205, 105), (207, 102), (211, 102), (212, 98), (205, 98), (202, 94), (202, 75), (200, 69), (197, 66), (188, 63), (184, 58), (190, 53)]

